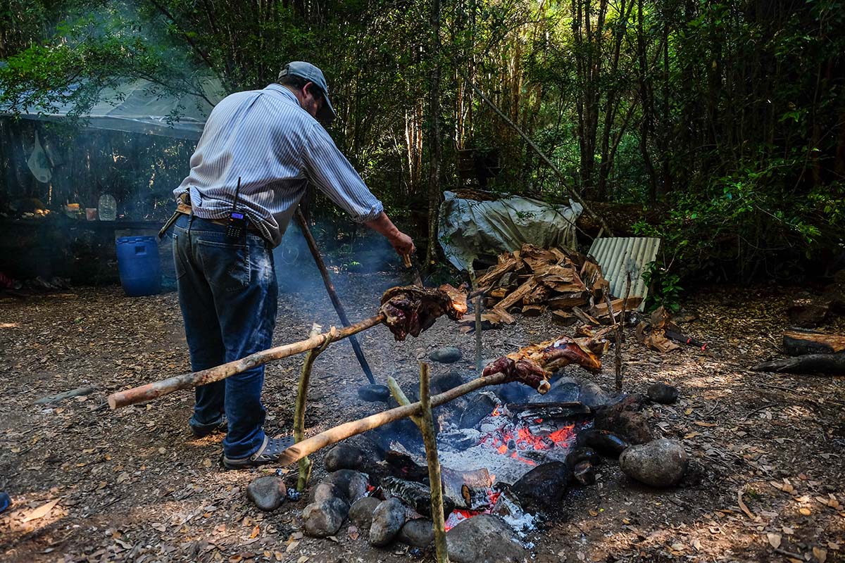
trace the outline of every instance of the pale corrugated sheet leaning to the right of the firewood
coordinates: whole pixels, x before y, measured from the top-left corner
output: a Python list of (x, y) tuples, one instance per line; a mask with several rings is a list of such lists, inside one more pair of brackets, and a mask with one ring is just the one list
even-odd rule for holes
[(625, 293), (625, 272), (631, 273), (631, 297), (642, 297), (639, 311), (642, 311), (648, 296), (648, 286), (642, 273), (646, 265), (653, 262), (660, 250), (660, 239), (646, 237), (610, 237), (592, 241), (590, 255), (602, 267), (602, 275), (610, 284), (610, 293), (623, 297)]

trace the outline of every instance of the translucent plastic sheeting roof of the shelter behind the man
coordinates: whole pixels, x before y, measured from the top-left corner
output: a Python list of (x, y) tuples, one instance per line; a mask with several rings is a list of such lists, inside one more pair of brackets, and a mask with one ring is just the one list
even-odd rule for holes
[[(73, 95), (79, 85), (63, 95)], [(205, 98), (216, 104), (225, 92), (220, 80), (209, 78), (202, 84)], [(73, 103), (50, 108), (25, 108), (15, 113), (10, 106), (0, 106), (0, 116), (17, 115), (25, 119), (62, 121), (71, 115)], [(99, 101), (75, 117), (87, 127), (127, 133), (147, 133), (172, 138), (199, 139), (212, 105), (199, 95), (170, 95), (149, 80), (134, 80), (116, 88), (103, 89)]]

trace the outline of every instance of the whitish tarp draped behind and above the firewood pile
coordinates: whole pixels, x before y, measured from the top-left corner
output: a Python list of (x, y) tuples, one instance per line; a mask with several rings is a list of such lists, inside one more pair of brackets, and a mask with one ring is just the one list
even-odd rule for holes
[(583, 208), (553, 205), (537, 199), (510, 197), (489, 202), (444, 193), (440, 206), (440, 246), (455, 268), (466, 270), (478, 257), (495, 262), (502, 252), (525, 243), (550, 248), (575, 248), (575, 221)]

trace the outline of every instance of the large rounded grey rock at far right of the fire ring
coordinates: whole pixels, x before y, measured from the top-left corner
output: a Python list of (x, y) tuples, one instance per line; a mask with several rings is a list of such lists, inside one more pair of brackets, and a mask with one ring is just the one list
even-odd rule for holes
[(690, 464), (690, 457), (677, 440), (654, 440), (631, 446), (619, 456), (624, 474), (652, 487), (678, 485)]

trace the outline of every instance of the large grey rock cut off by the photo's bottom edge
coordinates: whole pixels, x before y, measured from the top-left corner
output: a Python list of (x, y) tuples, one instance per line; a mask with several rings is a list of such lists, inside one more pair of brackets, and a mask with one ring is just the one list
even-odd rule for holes
[(449, 559), (455, 563), (523, 563), (528, 552), (504, 521), (479, 514), (446, 533)]

